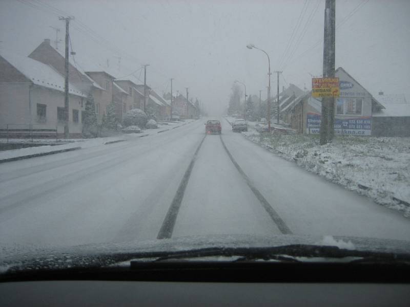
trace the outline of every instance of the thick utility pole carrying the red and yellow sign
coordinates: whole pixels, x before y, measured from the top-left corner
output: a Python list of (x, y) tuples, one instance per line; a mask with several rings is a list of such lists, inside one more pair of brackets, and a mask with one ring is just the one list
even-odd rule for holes
[[(335, 77), (335, 0), (326, 0), (323, 31), (323, 78)], [(335, 98), (322, 98), (320, 145), (334, 136)]]

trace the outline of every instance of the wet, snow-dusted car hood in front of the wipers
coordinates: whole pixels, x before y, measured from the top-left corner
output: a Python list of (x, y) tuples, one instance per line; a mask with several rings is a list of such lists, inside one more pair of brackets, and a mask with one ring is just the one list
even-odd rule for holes
[[(101, 257), (118, 254), (189, 251), (203, 248), (260, 248), (284, 245), (337, 246), (340, 249), (410, 255), (410, 241), (311, 235), (206, 235), (171, 239), (135, 240), (79, 246), (0, 245), (0, 273), (13, 267), (67, 268), (96, 264)], [(132, 256), (130, 257), (132, 258)]]

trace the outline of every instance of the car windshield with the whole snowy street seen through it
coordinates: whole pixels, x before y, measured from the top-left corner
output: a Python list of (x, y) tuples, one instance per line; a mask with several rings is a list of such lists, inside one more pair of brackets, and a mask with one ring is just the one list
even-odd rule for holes
[(409, 14), (0, 1), (0, 275), (68, 254), (410, 254)]

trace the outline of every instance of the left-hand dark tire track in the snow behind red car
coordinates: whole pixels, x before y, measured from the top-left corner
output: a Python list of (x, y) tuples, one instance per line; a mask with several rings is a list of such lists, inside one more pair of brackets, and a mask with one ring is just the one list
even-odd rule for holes
[(189, 164), (187, 170), (185, 171), (185, 174), (182, 177), (181, 183), (179, 184), (178, 190), (175, 193), (171, 206), (168, 209), (167, 215), (165, 216), (165, 219), (162, 222), (161, 228), (159, 229), (157, 239), (169, 239), (172, 236), (179, 208), (181, 207), (183, 194), (185, 193), (185, 189), (187, 188), (188, 181), (191, 176), (192, 168), (194, 167), (196, 157), (198, 156), (199, 149), (201, 148), (202, 143), (206, 137), (207, 135), (205, 135), (202, 138), (201, 142), (195, 150), (191, 163)]

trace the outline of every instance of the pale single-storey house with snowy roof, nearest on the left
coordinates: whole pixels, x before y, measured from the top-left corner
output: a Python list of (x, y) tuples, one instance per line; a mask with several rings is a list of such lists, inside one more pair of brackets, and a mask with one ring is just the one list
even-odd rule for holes
[[(81, 137), (87, 95), (69, 82), (70, 137)], [(57, 129), (64, 134), (65, 78), (33, 58), (0, 54), (0, 122), (15, 131)]]

